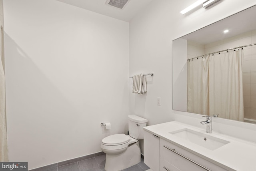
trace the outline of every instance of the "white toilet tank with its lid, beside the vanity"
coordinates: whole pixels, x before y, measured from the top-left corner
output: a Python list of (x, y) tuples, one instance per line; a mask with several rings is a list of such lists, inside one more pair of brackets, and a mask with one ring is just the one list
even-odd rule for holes
[(137, 115), (128, 115), (129, 135), (134, 139), (143, 139), (143, 127), (147, 125), (148, 120)]

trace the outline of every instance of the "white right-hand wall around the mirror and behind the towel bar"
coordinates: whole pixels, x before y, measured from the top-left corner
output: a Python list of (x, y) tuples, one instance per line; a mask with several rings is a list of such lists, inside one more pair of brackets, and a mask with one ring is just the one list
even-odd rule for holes
[[(130, 93), (130, 111), (142, 113), (148, 125), (179, 115), (172, 114), (172, 40), (256, 4), (255, 0), (221, 0), (207, 9), (180, 14), (192, 3), (194, 0), (153, 0), (130, 22), (130, 75), (154, 72), (146, 95)], [(161, 106), (156, 105), (156, 97), (161, 97)]]

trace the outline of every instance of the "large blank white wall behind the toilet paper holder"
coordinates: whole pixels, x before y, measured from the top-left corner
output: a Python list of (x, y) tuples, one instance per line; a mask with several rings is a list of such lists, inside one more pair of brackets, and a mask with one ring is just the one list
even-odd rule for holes
[(127, 133), (128, 22), (56, 0), (4, 0), (4, 24), (10, 161), (33, 169)]

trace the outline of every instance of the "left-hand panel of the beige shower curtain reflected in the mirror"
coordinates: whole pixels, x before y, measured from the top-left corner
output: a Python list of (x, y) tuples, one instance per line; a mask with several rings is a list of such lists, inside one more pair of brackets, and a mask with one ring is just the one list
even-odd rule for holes
[(209, 115), (209, 56), (188, 61), (187, 111)]

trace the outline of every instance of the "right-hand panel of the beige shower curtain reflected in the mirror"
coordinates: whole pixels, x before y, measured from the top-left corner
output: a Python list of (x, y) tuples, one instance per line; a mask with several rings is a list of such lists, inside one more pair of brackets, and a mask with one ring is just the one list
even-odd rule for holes
[(222, 52), (210, 58), (210, 115), (244, 121), (243, 50)]

